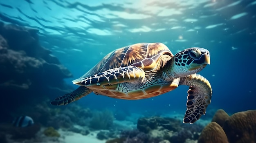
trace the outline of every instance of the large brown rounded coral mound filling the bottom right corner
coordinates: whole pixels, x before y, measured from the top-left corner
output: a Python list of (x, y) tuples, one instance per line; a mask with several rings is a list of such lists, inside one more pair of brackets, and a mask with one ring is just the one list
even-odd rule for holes
[(231, 115), (222, 128), (230, 143), (256, 143), (256, 110)]

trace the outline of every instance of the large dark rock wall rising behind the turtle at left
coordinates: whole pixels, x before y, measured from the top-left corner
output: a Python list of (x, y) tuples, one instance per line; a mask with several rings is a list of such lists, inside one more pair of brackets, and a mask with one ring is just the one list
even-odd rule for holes
[[(10, 112), (72, 91), (63, 79), (72, 77), (51, 51), (40, 46), (38, 30), (0, 22), (0, 121)], [(53, 80), (54, 79), (54, 80)], [(15, 99), (15, 100), (13, 100)]]

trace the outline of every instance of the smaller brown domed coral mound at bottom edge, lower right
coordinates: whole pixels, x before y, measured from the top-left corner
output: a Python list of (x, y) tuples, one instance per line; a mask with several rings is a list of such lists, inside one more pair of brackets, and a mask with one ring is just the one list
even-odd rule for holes
[(216, 122), (209, 123), (199, 136), (198, 143), (229, 143), (224, 130)]

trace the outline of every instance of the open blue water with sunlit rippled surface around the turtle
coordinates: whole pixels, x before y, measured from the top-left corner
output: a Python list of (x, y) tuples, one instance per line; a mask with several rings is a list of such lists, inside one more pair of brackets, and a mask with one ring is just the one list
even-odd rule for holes
[[(130, 44), (162, 42), (174, 54), (194, 46), (206, 48), (211, 64), (200, 75), (213, 89), (207, 112), (222, 108), (235, 113), (256, 109), (254, 9), (254, 0), (1, 0), (0, 20), (39, 29), (41, 45), (73, 74), (65, 79), (70, 85), (106, 54)], [(92, 93), (77, 102), (115, 112), (183, 114), (187, 90), (180, 86), (137, 101)]]

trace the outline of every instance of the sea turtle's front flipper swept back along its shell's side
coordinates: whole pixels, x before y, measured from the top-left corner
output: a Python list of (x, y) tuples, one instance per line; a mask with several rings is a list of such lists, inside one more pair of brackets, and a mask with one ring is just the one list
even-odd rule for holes
[(132, 82), (135, 79), (142, 79), (145, 77), (145, 72), (136, 66), (126, 66), (106, 70), (91, 77), (79, 78), (73, 81), (73, 84), (79, 86), (100, 86), (112, 85), (123, 82)]

